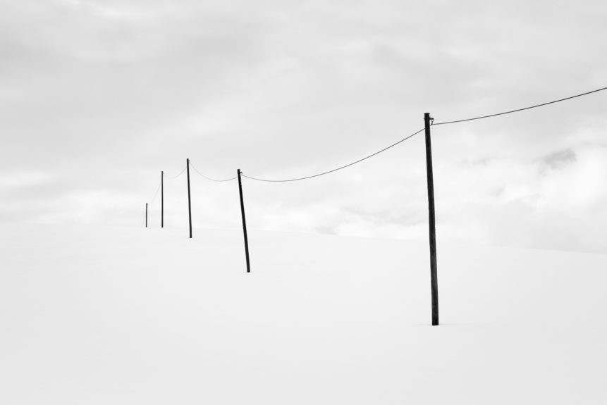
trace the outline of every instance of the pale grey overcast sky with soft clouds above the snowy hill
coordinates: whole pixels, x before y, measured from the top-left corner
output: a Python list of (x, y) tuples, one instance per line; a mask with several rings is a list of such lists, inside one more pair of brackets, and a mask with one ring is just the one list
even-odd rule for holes
[[(190, 158), (300, 177), (607, 86), (605, 1), (0, 1), (0, 222), (142, 226)], [(432, 127), (437, 239), (607, 253), (607, 91)], [(423, 134), (244, 179), (252, 229), (427, 239)], [(198, 228), (238, 184), (191, 173)], [(188, 226), (185, 175), (165, 225)], [(159, 226), (157, 197), (150, 226)], [(439, 248), (440, 249), (440, 248)]]

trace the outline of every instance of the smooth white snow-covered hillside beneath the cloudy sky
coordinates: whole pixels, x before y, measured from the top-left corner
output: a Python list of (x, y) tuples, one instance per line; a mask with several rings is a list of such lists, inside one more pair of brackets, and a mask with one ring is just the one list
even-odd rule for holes
[(0, 404), (606, 404), (607, 255), (0, 226)]

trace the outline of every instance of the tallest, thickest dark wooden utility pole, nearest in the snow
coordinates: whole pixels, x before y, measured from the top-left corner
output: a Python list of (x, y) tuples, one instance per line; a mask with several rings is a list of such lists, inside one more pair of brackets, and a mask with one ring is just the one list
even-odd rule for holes
[(424, 114), (426, 126), (426, 173), (428, 175), (428, 214), (430, 228), (430, 289), (432, 325), (439, 325), (439, 282), (436, 275), (436, 220), (434, 218), (434, 175), (432, 174), (432, 147), (430, 142), (430, 114)]

